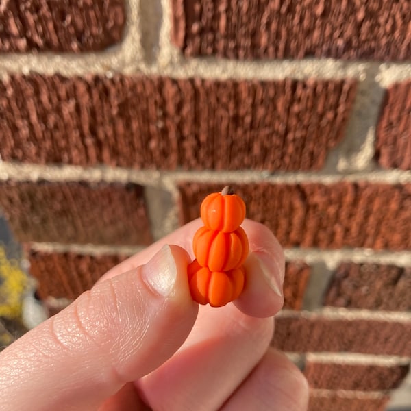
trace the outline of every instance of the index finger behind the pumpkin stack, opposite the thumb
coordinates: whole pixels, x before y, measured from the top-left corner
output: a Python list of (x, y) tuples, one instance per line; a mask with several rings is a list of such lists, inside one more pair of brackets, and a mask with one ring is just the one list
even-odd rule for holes
[[(192, 238), (202, 225), (201, 219), (196, 219), (180, 227), (110, 269), (99, 282), (147, 263), (166, 244), (179, 245), (186, 249), (193, 260), (195, 256), (192, 251)], [(284, 301), (282, 286), (285, 263), (282, 247), (265, 225), (245, 219), (241, 226), (249, 238), (250, 254), (245, 262), (245, 289), (235, 304), (242, 312), (251, 316), (272, 316), (282, 308)]]

